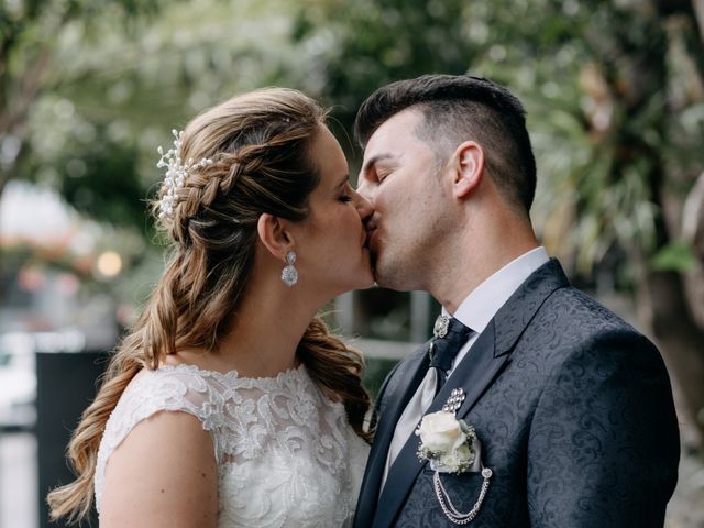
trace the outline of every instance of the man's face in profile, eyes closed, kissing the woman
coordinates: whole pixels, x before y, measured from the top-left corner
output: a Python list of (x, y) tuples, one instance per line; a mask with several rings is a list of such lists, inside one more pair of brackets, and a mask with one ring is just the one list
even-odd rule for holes
[(435, 251), (449, 213), (437, 153), (418, 138), (418, 109), (394, 116), (370, 138), (359, 193), (374, 213), (366, 221), (376, 282), (384, 287), (427, 289)]

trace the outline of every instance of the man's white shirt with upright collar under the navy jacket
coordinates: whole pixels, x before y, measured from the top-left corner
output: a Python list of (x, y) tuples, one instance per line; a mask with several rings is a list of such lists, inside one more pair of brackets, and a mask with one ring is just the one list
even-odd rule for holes
[[(499, 308), (506, 304), (524, 280), (526, 280), (532, 272), (548, 262), (548, 253), (544, 248), (540, 246), (530, 250), (506, 264), (480, 284), (458, 307), (454, 316), (448, 314), (444, 307), (442, 308), (442, 314), (454, 317), (465, 327), (473, 330), (468, 342), (460, 349), (458, 355), (454, 358), (452, 369), (450, 369), (448, 373), (448, 381), (452, 376), (454, 367), (466, 356), (476, 338), (484, 331)], [(381, 491), (384, 490), (388, 470), (394, 463), (394, 460), (396, 460), (396, 457), (408, 441), (408, 438), (414, 433), (416, 427), (418, 427), (426, 409), (430, 407), (430, 404), (432, 404), (435, 399), (436, 377), (436, 369), (428, 369), (428, 374), (426, 374), (426, 377), (420, 382), (416, 394), (410, 398), (396, 424), (394, 438), (392, 439), (386, 455), (386, 466), (384, 469), (384, 476), (382, 477)]]

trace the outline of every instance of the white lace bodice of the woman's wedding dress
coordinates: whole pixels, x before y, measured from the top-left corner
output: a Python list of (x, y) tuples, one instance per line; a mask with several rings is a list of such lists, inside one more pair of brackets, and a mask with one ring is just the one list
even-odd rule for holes
[(219, 528), (351, 526), (369, 448), (343, 405), (328, 399), (304, 366), (272, 378), (194, 365), (141, 372), (100, 443), (98, 512), (110, 454), (140, 421), (162, 410), (189, 413), (210, 432)]

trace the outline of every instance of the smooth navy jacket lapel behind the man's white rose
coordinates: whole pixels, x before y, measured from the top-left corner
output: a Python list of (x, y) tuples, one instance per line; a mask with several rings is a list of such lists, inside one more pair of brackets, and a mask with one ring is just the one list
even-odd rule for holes
[[(540, 306), (552, 292), (566, 285), (569, 282), (554, 258), (534, 272), (490, 321), (464, 360), (452, 372), (426, 414), (440, 410), (448, 400), (450, 392), (453, 388), (462, 387), (465, 399), (462, 407), (458, 409), (457, 416), (464, 417), (498, 376), (510, 358), (509, 352)], [(394, 428), (395, 422), (391, 435), (393, 435)], [(391, 438), (385, 443), (384, 453), (388, 449), (388, 442), (391, 442)], [(374, 518), (374, 528), (393, 525), (418, 473), (427, 463), (418, 460), (417, 450), (418, 438), (411, 435), (388, 472), (384, 491), (380, 497), (381, 507)], [(375, 490), (378, 490), (378, 486)]]

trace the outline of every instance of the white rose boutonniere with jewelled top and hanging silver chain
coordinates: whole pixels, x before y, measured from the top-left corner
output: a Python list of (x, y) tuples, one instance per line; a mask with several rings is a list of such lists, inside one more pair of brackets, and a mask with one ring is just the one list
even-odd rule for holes
[[(464, 391), (453, 389), (442, 410), (424, 416), (416, 429), (416, 436), (420, 437), (418, 458), (430, 462), (430, 469), (435, 471), (432, 486), (438, 503), (446, 517), (455, 525), (466, 525), (476, 517), (493, 475), (492, 470), (482, 463), (482, 447), (474, 427), (454, 416), (463, 400)], [(474, 507), (463, 514), (450, 501), (440, 474), (465, 472), (481, 472), (483, 480)]]

